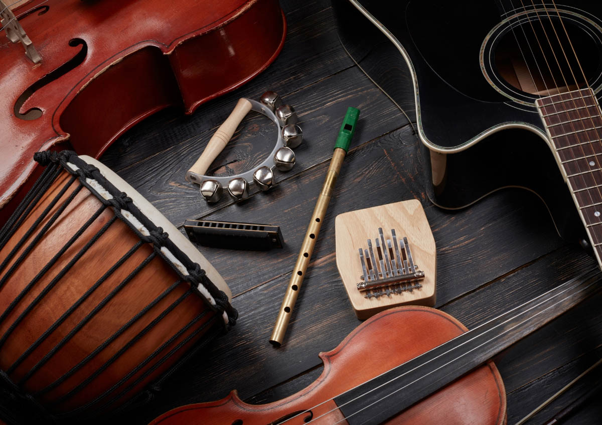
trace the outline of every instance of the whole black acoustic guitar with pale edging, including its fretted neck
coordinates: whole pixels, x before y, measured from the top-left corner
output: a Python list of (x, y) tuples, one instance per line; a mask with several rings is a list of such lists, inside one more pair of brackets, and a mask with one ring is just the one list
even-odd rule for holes
[[(542, 2), (543, 1), (543, 2)], [(602, 2), (335, 0), (343, 46), (414, 97), (427, 191), (461, 208), (534, 191), (602, 264)]]

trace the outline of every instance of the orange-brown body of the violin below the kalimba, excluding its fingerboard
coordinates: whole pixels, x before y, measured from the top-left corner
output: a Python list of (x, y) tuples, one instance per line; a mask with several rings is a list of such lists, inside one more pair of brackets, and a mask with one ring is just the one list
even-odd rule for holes
[[(433, 329), (437, 330), (436, 334), (433, 334)], [(237, 420), (244, 425), (273, 422), (302, 425), (308, 415), (315, 425), (338, 421), (353, 425), (353, 421), (346, 421), (338, 410), (334, 397), (465, 331), (467, 328), (455, 318), (430, 307), (402, 306), (385, 310), (360, 324), (336, 348), (321, 352), (323, 372), (298, 393), (275, 402), (250, 405), (243, 402), (234, 390), (221, 400), (172, 409), (149, 425), (230, 425), (240, 423)], [(377, 343), (386, 348), (386, 352), (374, 350)], [(350, 374), (349, 370), (356, 373)], [(306, 411), (311, 413), (279, 421)], [(473, 423), (471, 420), (475, 418), (478, 419), (475, 423), (482, 425), (506, 424), (506, 391), (492, 361), (436, 391), (385, 424), (460, 425)]]

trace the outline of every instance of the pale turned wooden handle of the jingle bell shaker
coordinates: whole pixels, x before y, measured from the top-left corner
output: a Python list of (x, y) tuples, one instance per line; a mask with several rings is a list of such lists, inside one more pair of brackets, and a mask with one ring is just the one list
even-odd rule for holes
[(207, 147), (200, 155), (199, 159), (196, 160), (193, 166), (190, 167), (186, 173), (186, 179), (190, 181), (190, 173), (196, 173), (199, 175), (205, 175), (211, 163), (217, 158), (217, 155), (223, 151), (230, 139), (232, 134), (236, 131), (238, 124), (243, 121), (243, 118), (251, 110), (250, 101), (245, 98), (238, 99), (238, 103), (234, 107), (234, 110), (230, 113), (226, 121), (220, 125), (216, 133), (211, 136)]

